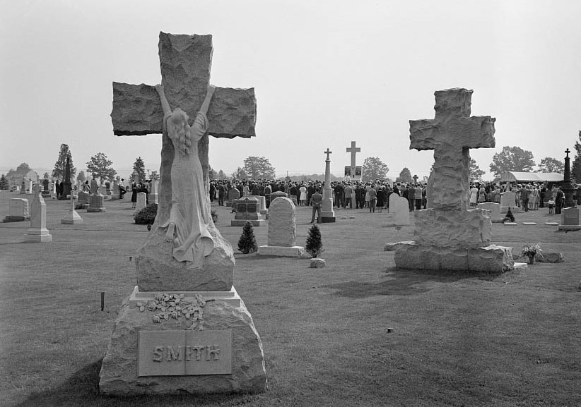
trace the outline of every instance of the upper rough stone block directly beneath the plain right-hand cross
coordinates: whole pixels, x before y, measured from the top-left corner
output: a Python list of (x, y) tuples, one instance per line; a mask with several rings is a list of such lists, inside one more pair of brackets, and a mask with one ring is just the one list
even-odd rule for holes
[(487, 210), (422, 209), (413, 214), (413, 237), (418, 244), (462, 248), (481, 248), (491, 244), (492, 223)]

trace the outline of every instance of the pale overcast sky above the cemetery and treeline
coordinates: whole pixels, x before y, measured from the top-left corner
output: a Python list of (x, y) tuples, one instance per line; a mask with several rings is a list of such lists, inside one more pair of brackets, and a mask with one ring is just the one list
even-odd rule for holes
[[(435, 90), (474, 90), (472, 114), (496, 118), (496, 147), (563, 160), (581, 129), (581, 1), (0, 0), (0, 172), (51, 171), (61, 143), (76, 167), (97, 152), (127, 177), (158, 170), (160, 135), (113, 135), (112, 82), (160, 83), (158, 35), (213, 35), (211, 83), (254, 87), (257, 137), (210, 141), (231, 174), (249, 156), (278, 176), (331, 172), (357, 142), (396, 178), (428, 176), (409, 120), (433, 119)], [(490, 175), (489, 175), (490, 176)], [(490, 176), (491, 177), (491, 176)]]

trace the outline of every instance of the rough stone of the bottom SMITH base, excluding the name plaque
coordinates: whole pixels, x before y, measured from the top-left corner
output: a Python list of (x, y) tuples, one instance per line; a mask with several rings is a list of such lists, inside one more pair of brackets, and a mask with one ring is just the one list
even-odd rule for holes
[(99, 387), (102, 394), (207, 394), (230, 391), (249, 393), (266, 390), (262, 342), (252, 315), (244, 303), (234, 307), (223, 301), (204, 306), (204, 331), (232, 330), (232, 374), (194, 376), (137, 376), (138, 332), (187, 331), (192, 320), (180, 317), (153, 323), (154, 312), (140, 312), (125, 300), (115, 321), (107, 354), (102, 362)]

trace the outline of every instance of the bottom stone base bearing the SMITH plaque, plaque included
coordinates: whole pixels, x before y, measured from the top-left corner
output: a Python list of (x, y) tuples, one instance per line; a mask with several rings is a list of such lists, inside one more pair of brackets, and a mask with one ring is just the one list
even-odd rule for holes
[[(195, 299), (192, 294), (185, 298)], [(150, 311), (147, 301), (139, 302), (140, 308), (136, 301), (124, 300), (101, 366), (101, 393), (266, 391), (262, 342), (244, 302), (194, 303), (201, 309), (195, 317), (177, 312), (177, 318), (159, 319), (155, 316), (163, 312), (155, 307)]]

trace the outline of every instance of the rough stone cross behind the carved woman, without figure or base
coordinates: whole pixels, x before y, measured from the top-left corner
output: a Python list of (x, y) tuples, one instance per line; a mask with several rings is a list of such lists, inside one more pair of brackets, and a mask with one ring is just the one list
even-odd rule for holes
[[(160, 32), (159, 56), (161, 83), (170, 107), (179, 107), (194, 119), (206, 97), (212, 61), (211, 35), (172, 35)], [(256, 98), (254, 88), (216, 87), (208, 113), (208, 133), (216, 138), (250, 138), (256, 135)], [(113, 83), (111, 112), (115, 135), (163, 133), (163, 109), (155, 87)], [(208, 134), (198, 143), (199, 157), (208, 176)], [(169, 216), (172, 197), (170, 172), (174, 148), (168, 135), (163, 135), (160, 168), (160, 197), (155, 223)]]

